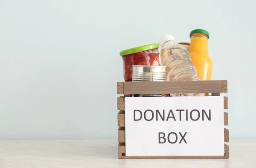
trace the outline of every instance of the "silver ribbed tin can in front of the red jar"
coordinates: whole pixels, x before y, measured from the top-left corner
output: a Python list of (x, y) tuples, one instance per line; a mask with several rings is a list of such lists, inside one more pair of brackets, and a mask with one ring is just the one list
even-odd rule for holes
[[(165, 66), (133, 65), (132, 81), (166, 81)], [(133, 97), (161, 97), (165, 94), (136, 94)]]

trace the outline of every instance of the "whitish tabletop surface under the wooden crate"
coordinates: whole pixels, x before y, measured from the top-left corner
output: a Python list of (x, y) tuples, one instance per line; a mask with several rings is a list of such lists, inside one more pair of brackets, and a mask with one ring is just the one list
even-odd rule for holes
[(256, 168), (256, 139), (230, 140), (228, 160), (119, 160), (117, 140), (0, 140), (0, 168)]

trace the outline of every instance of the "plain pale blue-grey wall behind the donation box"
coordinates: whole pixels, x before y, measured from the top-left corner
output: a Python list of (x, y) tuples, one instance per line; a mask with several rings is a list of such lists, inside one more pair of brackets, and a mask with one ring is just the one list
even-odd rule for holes
[(253, 0), (0, 0), (0, 139), (117, 138), (119, 51), (209, 31), (230, 137), (256, 137)]

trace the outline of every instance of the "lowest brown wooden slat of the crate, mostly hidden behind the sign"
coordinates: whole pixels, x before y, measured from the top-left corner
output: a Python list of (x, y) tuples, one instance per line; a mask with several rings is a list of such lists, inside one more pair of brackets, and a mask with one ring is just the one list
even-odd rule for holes
[(125, 156), (125, 143), (118, 145), (119, 159), (228, 159), (229, 146), (224, 144), (224, 156)]

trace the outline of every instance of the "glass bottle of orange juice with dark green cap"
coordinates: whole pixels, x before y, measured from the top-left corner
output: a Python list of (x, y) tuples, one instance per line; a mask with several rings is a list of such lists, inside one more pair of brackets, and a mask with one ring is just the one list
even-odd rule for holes
[[(197, 70), (197, 76), (201, 81), (211, 80), (212, 60), (208, 55), (209, 32), (196, 29), (190, 32), (189, 56)], [(205, 93), (205, 96), (208, 96)]]

